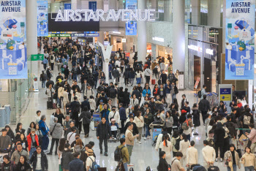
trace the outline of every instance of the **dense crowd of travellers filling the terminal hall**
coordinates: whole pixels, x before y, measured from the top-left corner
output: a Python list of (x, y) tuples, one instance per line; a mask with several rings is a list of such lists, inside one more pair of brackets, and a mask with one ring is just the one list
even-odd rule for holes
[[(135, 54), (132, 65), (119, 50), (109, 61), (109, 79), (113, 82), (108, 84), (102, 72), (103, 58), (89, 45), (78, 45), (69, 38), (39, 39), (39, 42), (45, 53), (40, 81), (48, 96), (47, 108), (56, 111), (47, 122), (46, 116), (38, 110), (27, 130), (22, 123), (17, 124), (15, 131), (10, 126), (2, 129), (0, 151), (6, 153), (2, 170), (45, 171), (48, 170), (47, 155), (53, 154), (59, 156), (59, 170), (95, 170), (99, 167), (93, 150), (95, 144), (81, 140), (82, 131), (84, 137), (89, 137), (94, 113), (99, 113), (101, 118), (95, 137), (100, 154), (108, 156), (109, 140), (120, 142), (116, 151), (111, 151), (119, 170), (127, 171), (134, 166), (135, 142), (141, 144), (142, 139), (152, 138), (159, 153), (157, 169), (161, 171), (184, 171), (192, 167), (213, 170), (216, 169), (214, 161), (218, 160), (223, 161), (227, 170), (236, 171), (241, 164), (245, 170), (256, 169), (254, 115), (245, 97), (233, 96), (228, 104), (232, 112), (228, 114), (227, 104), (222, 101), (218, 106), (210, 106), (203, 85), (198, 104), (189, 104), (186, 94), (181, 95), (181, 103), (178, 103), (178, 71), (173, 73), (170, 57), (167, 64), (161, 57), (151, 62), (151, 56), (142, 62)], [(53, 78), (56, 68), (58, 76)], [(121, 77), (124, 87), (119, 86)], [(153, 84), (154, 79), (157, 83)], [(132, 91), (129, 91), (130, 86)], [(203, 163), (198, 162), (195, 141), (191, 140), (192, 134), (198, 135), (199, 126), (206, 134), (201, 135), (206, 137), (204, 148), (200, 150)], [(161, 134), (152, 137), (153, 128), (162, 129)]]

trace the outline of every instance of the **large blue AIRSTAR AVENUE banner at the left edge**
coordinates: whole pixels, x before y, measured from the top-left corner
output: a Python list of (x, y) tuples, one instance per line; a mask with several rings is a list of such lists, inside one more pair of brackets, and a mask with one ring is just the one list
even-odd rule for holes
[(28, 78), (26, 0), (0, 2), (0, 79)]

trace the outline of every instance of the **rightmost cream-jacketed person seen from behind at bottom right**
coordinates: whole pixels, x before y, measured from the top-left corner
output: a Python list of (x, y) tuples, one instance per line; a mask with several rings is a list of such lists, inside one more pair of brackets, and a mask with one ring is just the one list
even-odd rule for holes
[(216, 153), (213, 147), (208, 145), (207, 140), (203, 140), (203, 145), (205, 146), (202, 149), (203, 153), (203, 167), (208, 170), (208, 167), (212, 164), (214, 164), (214, 160), (216, 159)]

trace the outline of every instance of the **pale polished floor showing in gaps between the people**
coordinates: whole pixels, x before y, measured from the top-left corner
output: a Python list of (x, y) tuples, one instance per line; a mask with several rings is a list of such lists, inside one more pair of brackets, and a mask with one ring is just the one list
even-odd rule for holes
[[(56, 70), (57, 70), (57, 66), (55, 66), (54, 68), (53, 78), (57, 76)], [(41, 64), (39, 64), (38, 75), (41, 73), (41, 71), (42, 71), (42, 66)], [(123, 79), (120, 80), (120, 83), (121, 83), (120, 86), (124, 86)], [(129, 87), (129, 91), (131, 91), (131, 89), (132, 88)], [(179, 91), (179, 94), (177, 95), (177, 99), (179, 103), (181, 102), (182, 94), (187, 95), (187, 99), (189, 100), (190, 107), (192, 107), (192, 104), (196, 102), (196, 98), (193, 96), (193, 92)], [(53, 114), (55, 110), (47, 110), (46, 101), (47, 101), (47, 96), (45, 95), (45, 90), (42, 90), (41, 83), (39, 83), (39, 92), (34, 93), (32, 95), (31, 100), (29, 102), (29, 107), (26, 110), (26, 113), (20, 118), (20, 122), (23, 123), (23, 128), (26, 129), (29, 126), (29, 123), (35, 120), (34, 117), (36, 116), (37, 110), (41, 110), (42, 115), (43, 114), (47, 115), (46, 122), (49, 123), (50, 115)], [(201, 123), (203, 123), (202, 119), (201, 119)], [(197, 148), (197, 151), (198, 151), (199, 163), (203, 164), (203, 155), (202, 155), (201, 149), (203, 148), (203, 140), (206, 139), (205, 126), (202, 125), (200, 127), (197, 127), (195, 131), (198, 132), (199, 135), (195, 137), (192, 135), (191, 140), (195, 141), (195, 148)], [(97, 156), (96, 158), (97, 163), (101, 167), (107, 167), (108, 168), (107, 170), (115, 170), (117, 163), (116, 161), (114, 161), (113, 152), (115, 151), (116, 146), (119, 145), (119, 142), (108, 143), (109, 156), (106, 157), (99, 154), (99, 140), (97, 140), (96, 131), (90, 131), (89, 138), (83, 138), (83, 133), (81, 137), (84, 144), (87, 144), (89, 141), (95, 142), (94, 152), (96, 153), (96, 156)], [(135, 164), (133, 167), (134, 170), (144, 171), (146, 170), (146, 167), (150, 166), (151, 170), (157, 171), (159, 157), (158, 157), (158, 152), (155, 151), (154, 147), (152, 147), (151, 145), (152, 140), (141, 140), (141, 142), (142, 142), (141, 144), (135, 143), (134, 150), (132, 151), (131, 163)], [(49, 162), (50, 171), (59, 170), (58, 156), (48, 156), (48, 162)], [(214, 165), (217, 165), (220, 170), (227, 170), (227, 168), (224, 167), (224, 162), (218, 161), (218, 162), (215, 162)], [(241, 170), (244, 170), (244, 167)]]

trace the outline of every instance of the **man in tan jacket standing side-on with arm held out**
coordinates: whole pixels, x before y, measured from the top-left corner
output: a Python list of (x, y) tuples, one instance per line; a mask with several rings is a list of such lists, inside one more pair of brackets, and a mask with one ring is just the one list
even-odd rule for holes
[(131, 164), (132, 149), (133, 149), (133, 145), (135, 144), (134, 142), (135, 138), (139, 137), (139, 134), (136, 134), (135, 136), (133, 136), (132, 129), (133, 129), (133, 124), (128, 123), (128, 129), (125, 132), (125, 144), (127, 145), (127, 149), (129, 153), (129, 161), (127, 162), (128, 166), (133, 166), (133, 164)]

